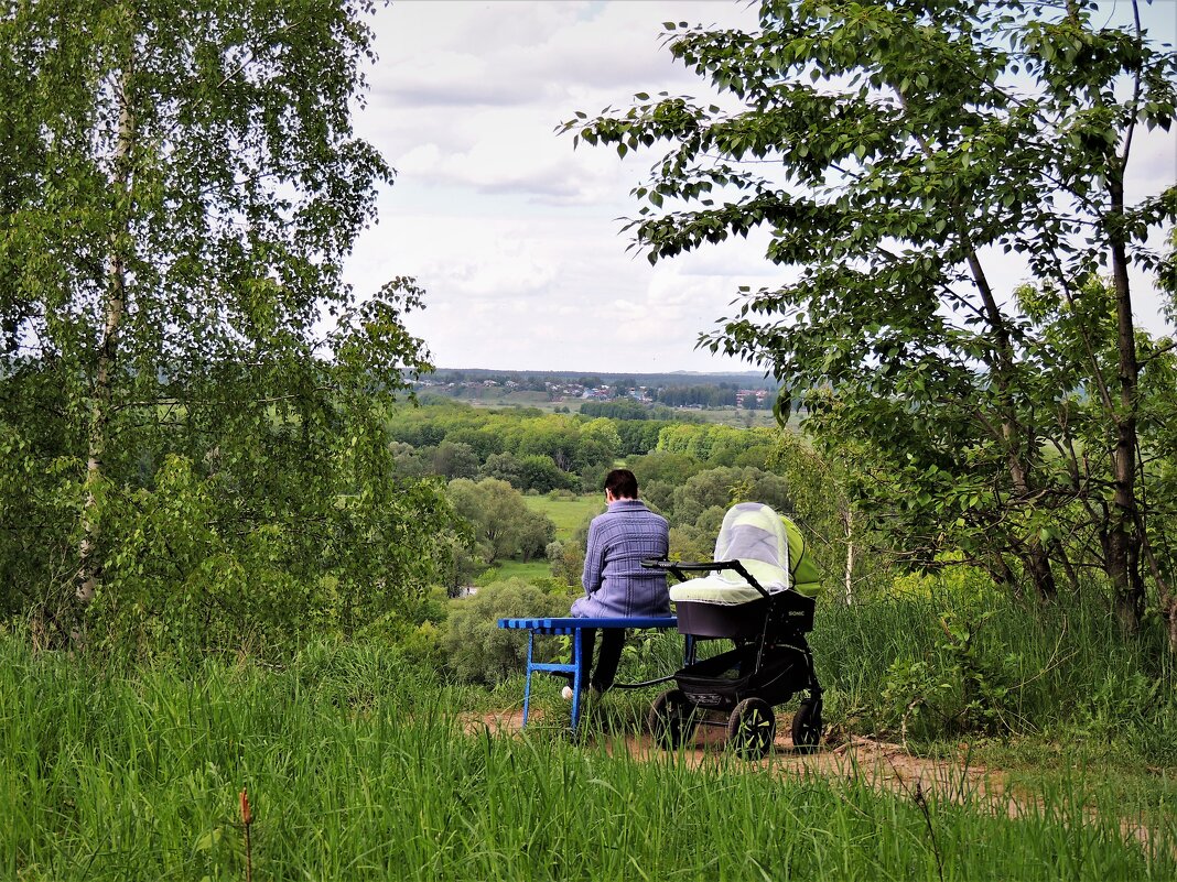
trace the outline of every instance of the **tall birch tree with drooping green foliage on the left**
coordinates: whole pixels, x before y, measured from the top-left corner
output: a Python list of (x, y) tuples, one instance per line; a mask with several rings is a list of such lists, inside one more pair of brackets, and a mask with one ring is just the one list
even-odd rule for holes
[(343, 281), (392, 180), (351, 122), (371, 7), (0, 16), (0, 590), (47, 640), (350, 627), (427, 576), (445, 503), (392, 477), (379, 414), (428, 367), (423, 292)]

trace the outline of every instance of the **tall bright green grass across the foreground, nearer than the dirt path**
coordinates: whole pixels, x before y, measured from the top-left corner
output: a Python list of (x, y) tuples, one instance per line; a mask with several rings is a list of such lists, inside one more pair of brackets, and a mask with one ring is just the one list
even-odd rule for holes
[[(982, 803), (782, 780), (717, 755), (610, 755), (537, 730), (466, 734), (455, 694), (374, 646), (284, 670), (106, 673), (0, 642), (0, 877), (1172, 878), (1063, 791)], [(1151, 857), (1148, 853), (1152, 853)]]

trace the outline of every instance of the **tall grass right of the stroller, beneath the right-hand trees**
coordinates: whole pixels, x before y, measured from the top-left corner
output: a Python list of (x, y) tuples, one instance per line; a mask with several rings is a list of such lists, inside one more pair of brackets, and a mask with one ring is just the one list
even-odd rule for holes
[(1150, 622), (1124, 639), (1096, 597), (1049, 607), (1005, 596), (823, 603), (810, 642), (834, 713), (895, 731), (895, 708), (880, 702), (889, 670), (919, 660), (945, 667), (945, 613), (1010, 676), (1005, 734), (1103, 740), (1177, 767), (1177, 666), (1162, 629)]

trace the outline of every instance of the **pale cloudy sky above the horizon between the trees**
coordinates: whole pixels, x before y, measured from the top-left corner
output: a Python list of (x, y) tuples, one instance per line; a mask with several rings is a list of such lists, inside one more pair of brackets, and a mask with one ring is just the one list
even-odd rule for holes
[[(1123, 1), (1121, 7), (1126, 6)], [(1177, 41), (1177, 0), (1152, 25)], [(740, 285), (772, 283), (764, 238), (651, 267), (621, 216), (649, 155), (573, 149), (556, 127), (637, 92), (703, 99), (660, 48), (661, 22), (754, 26), (742, 0), (397, 0), (373, 20), (358, 133), (397, 169), (380, 222), (348, 265), (359, 292), (417, 276), (410, 329), (439, 367), (537, 370), (751, 369), (696, 348)], [(1177, 180), (1177, 140), (1145, 145), (1141, 186)], [(1163, 329), (1155, 301), (1139, 320)]]

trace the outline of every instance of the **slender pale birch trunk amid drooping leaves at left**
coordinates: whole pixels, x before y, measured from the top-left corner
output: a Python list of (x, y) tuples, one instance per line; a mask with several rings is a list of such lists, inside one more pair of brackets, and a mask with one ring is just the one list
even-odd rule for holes
[[(111, 178), (111, 191), (117, 211), (126, 212), (131, 189), (131, 147), (134, 136), (134, 118), (131, 111), (129, 66), (119, 78), (119, 133)], [(78, 546), (77, 599), (79, 613), (94, 599), (101, 579), (98, 561), (99, 524), (97, 517), (98, 487), (102, 480), (102, 455), (106, 449), (107, 429), (111, 422), (111, 385), (118, 366), (119, 328), (126, 312), (127, 267), (125, 239), (127, 218), (122, 214), (111, 233), (111, 250), (106, 265), (106, 299), (102, 316), (102, 338), (99, 341), (98, 361), (94, 370), (89, 425), (87, 426), (87, 455), (85, 501), (81, 509), (81, 541)]]

